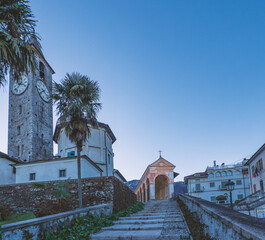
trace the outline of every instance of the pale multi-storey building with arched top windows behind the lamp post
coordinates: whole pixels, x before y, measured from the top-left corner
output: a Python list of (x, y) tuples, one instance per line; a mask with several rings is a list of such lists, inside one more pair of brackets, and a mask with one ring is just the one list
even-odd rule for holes
[(248, 168), (244, 166), (245, 162), (246, 160), (221, 166), (214, 162), (214, 166), (207, 167), (205, 172), (186, 176), (184, 181), (187, 184), (188, 194), (214, 203), (228, 204), (230, 203), (229, 191), (226, 190), (225, 184), (231, 180), (235, 184), (232, 201), (245, 198), (250, 194)]

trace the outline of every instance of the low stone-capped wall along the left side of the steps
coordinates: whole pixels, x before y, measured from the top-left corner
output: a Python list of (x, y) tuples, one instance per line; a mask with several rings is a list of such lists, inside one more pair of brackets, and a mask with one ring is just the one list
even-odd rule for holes
[(64, 226), (70, 225), (71, 221), (76, 217), (88, 214), (97, 216), (109, 215), (112, 213), (112, 208), (112, 204), (101, 204), (46, 217), (6, 224), (1, 228), (2, 240), (44, 239), (45, 232), (48, 230), (51, 232), (59, 231)]

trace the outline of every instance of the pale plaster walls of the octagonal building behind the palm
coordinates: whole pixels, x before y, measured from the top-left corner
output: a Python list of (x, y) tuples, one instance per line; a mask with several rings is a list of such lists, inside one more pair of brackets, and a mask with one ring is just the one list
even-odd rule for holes
[[(104, 128), (90, 129), (91, 135), (83, 145), (81, 155), (88, 156), (103, 170), (102, 176), (113, 176), (113, 149), (112, 140)], [(58, 155), (68, 157), (68, 153), (77, 149), (62, 129), (58, 138)], [(107, 156), (110, 155), (110, 163)], [(107, 166), (107, 167), (106, 167)]]

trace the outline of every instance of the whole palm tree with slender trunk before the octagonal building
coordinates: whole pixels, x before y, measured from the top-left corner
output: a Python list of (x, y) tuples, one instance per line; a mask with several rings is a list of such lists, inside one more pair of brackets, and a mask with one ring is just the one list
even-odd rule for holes
[(60, 124), (77, 147), (79, 208), (82, 208), (80, 152), (91, 134), (88, 124), (92, 127), (98, 126), (97, 112), (101, 108), (101, 103), (98, 102), (99, 93), (97, 81), (80, 73), (67, 73), (61, 83), (54, 82), (51, 95)]

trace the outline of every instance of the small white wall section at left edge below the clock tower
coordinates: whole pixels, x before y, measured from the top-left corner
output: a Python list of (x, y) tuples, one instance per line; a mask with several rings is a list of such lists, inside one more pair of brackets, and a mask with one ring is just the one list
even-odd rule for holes
[(13, 173), (13, 167), (10, 164), (14, 162), (5, 158), (0, 158), (0, 185), (14, 184), (16, 181), (16, 175)]

